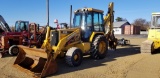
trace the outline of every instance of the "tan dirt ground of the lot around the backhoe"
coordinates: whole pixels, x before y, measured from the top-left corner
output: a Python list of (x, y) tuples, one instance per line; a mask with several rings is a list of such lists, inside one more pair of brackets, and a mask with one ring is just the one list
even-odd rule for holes
[[(141, 54), (142, 36), (116, 36), (130, 40), (130, 45), (118, 46), (108, 51), (107, 57), (94, 60), (84, 57), (78, 67), (68, 67), (64, 60), (58, 61), (59, 70), (47, 78), (160, 78), (160, 53)], [(0, 59), (0, 78), (32, 78), (13, 67), (16, 57)]]

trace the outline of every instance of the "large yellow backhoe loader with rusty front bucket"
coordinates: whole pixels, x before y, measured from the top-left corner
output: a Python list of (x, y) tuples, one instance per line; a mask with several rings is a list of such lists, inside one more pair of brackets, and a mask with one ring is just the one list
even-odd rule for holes
[(108, 50), (108, 39), (115, 39), (113, 21), (113, 2), (104, 17), (102, 10), (78, 9), (74, 12), (71, 28), (51, 30), (47, 27), (41, 49), (19, 45), (14, 66), (34, 76), (45, 77), (57, 71), (57, 57), (64, 57), (69, 66), (79, 66), (83, 55), (103, 59)]

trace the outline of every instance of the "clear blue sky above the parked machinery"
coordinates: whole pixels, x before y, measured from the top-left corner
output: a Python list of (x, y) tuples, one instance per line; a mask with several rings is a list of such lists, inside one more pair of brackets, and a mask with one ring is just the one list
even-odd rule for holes
[[(4, 17), (9, 26), (14, 26), (17, 20), (46, 25), (46, 1), (1, 0), (0, 15)], [(158, 0), (49, 0), (49, 24), (55, 27), (54, 19), (58, 19), (59, 23), (69, 24), (70, 5), (72, 5), (73, 11), (83, 7), (92, 7), (104, 10), (105, 15), (110, 2), (114, 2), (115, 18), (122, 17), (130, 23), (137, 18), (150, 21), (152, 12), (160, 12)]]

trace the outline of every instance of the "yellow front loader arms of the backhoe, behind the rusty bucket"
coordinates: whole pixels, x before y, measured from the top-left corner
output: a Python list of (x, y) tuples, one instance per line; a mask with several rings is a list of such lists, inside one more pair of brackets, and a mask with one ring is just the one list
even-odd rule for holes
[[(46, 52), (48, 52), (48, 54), (51, 54), (52, 50), (54, 51), (54, 55), (53, 55), (53, 59), (56, 59), (57, 55), (60, 54), (60, 52), (62, 51), (62, 49), (65, 47), (65, 44), (73, 37), (75, 36), (80, 36), (80, 29), (76, 29), (75, 31), (73, 31), (71, 34), (67, 35), (66, 37), (62, 38), (59, 42), (57, 46), (51, 46), (50, 45), (50, 27), (47, 27), (47, 32), (46, 32), (46, 38), (42, 44), (41, 49), (46, 49)], [(63, 30), (62, 30), (63, 31)], [(73, 44), (78, 43), (79, 41), (73, 42)]]

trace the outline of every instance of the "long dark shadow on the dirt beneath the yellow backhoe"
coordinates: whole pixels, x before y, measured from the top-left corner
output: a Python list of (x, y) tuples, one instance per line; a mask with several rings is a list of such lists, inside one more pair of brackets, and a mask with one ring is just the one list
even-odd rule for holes
[(78, 70), (89, 69), (93, 67), (104, 66), (109, 61), (115, 61), (116, 60), (115, 58), (117, 57), (124, 57), (139, 53), (140, 53), (140, 47), (138, 47), (138, 45), (126, 45), (121, 48), (118, 48), (116, 51), (109, 50), (107, 57), (105, 59), (95, 60), (91, 59), (90, 57), (84, 57), (82, 64), (78, 67), (69, 67), (68, 65), (66, 65), (64, 59), (60, 59), (57, 61), (58, 72), (56, 74), (53, 74), (52, 76), (61, 75)]

